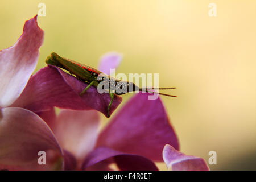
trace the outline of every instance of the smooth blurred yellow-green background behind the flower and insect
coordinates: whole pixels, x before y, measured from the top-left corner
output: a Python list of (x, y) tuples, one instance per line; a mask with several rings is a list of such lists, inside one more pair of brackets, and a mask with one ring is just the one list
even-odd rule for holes
[[(177, 87), (168, 92), (177, 98), (162, 100), (182, 152), (208, 162), (216, 151), (212, 170), (256, 169), (256, 1), (1, 0), (0, 49), (16, 42), (40, 2), (36, 71), (52, 51), (96, 68), (101, 55), (118, 51), (117, 72), (159, 73), (160, 86)], [(208, 15), (211, 2), (217, 17)]]

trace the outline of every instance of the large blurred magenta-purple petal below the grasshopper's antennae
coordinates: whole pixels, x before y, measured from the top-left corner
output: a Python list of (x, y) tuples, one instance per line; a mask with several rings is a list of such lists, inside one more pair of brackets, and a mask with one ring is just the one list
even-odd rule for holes
[(123, 106), (102, 131), (97, 146), (162, 161), (162, 150), (166, 143), (179, 149), (162, 101), (159, 98), (148, 100), (148, 94), (139, 93)]

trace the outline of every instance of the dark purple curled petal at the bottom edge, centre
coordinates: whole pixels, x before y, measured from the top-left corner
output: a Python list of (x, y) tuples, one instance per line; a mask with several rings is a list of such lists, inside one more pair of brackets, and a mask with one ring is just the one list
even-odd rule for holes
[[(112, 150), (108, 147), (98, 147), (92, 153), (90, 153), (82, 165), (82, 169), (93, 166), (94, 164), (103, 162), (109, 158), (114, 158), (118, 167), (123, 170), (147, 170), (155, 171), (158, 168), (155, 164), (143, 156), (126, 154), (123, 152)], [(95, 168), (94, 168), (95, 169)]]

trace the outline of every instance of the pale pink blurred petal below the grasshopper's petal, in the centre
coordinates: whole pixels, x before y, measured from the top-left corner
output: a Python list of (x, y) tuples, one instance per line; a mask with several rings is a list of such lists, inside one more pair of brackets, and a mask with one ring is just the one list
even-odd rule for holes
[(61, 110), (53, 131), (60, 146), (81, 160), (96, 144), (99, 121), (100, 116), (94, 110)]

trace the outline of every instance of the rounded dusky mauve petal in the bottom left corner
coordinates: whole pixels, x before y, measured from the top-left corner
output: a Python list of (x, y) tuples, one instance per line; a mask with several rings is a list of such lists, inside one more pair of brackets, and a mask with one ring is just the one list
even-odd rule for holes
[(18, 107), (0, 110), (0, 164), (23, 165), (39, 151), (62, 151), (51, 129), (38, 115)]

